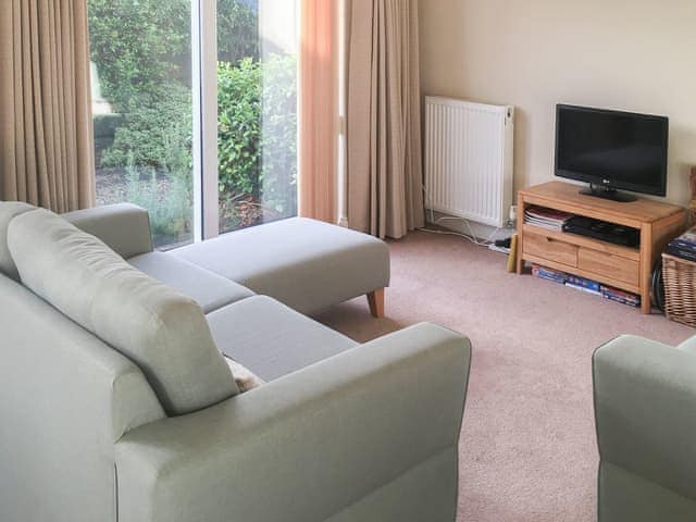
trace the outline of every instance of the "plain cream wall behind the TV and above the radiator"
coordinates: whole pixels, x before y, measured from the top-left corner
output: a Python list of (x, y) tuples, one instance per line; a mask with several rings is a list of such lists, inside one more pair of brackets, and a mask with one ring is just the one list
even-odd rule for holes
[(421, 0), (424, 95), (517, 107), (515, 187), (554, 177), (558, 102), (670, 117), (668, 200), (696, 165), (696, 0)]

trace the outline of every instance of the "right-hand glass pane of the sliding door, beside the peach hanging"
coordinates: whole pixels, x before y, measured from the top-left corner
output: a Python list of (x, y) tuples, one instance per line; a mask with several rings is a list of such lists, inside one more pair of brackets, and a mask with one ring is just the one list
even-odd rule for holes
[(297, 214), (297, 4), (217, 1), (220, 232)]

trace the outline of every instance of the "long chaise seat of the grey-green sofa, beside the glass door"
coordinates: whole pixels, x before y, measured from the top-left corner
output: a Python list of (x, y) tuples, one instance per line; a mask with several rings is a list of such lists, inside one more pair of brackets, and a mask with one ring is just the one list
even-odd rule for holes
[(384, 241), (303, 217), (244, 228), (172, 253), (302, 313), (389, 284)]

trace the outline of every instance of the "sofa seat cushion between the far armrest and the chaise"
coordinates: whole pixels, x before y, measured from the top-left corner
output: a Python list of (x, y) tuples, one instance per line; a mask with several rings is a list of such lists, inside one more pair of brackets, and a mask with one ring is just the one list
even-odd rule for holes
[(128, 259), (128, 263), (150, 277), (194, 299), (204, 313), (253, 296), (244, 286), (196, 264), (164, 252), (150, 252)]

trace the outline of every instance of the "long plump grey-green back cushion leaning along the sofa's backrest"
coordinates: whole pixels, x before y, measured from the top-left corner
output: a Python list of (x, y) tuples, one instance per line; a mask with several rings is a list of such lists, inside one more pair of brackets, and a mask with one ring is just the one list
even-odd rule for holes
[(140, 366), (170, 415), (238, 393), (200, 307), (47, 210), (10, 223), (22, 283)]

